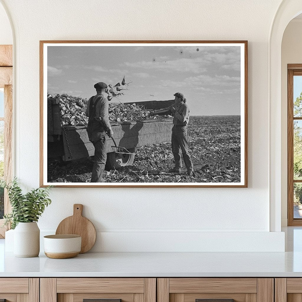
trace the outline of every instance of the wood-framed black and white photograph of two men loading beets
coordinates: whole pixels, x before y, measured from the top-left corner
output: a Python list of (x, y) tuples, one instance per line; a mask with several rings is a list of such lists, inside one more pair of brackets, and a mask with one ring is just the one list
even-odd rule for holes
[(247, 187), (247, 41), (40, 41), (40, 186)]

